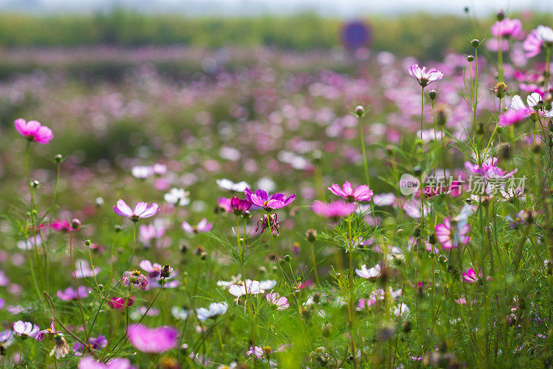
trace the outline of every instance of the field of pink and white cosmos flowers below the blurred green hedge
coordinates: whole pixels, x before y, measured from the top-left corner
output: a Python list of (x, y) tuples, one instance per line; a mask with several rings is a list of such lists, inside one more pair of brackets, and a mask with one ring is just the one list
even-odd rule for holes
[(553, 24), (494, 22), (3, 51), (2, 368), (550, 368)]

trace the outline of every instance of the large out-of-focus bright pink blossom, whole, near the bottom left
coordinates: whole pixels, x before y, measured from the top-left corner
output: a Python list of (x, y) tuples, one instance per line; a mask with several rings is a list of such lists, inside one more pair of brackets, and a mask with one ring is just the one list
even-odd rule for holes
[(149, 328), (142, 324), (129, 325), (129, 342), (139, 351), (160, 354), (176, 347), (178, 331), (175, 327)]

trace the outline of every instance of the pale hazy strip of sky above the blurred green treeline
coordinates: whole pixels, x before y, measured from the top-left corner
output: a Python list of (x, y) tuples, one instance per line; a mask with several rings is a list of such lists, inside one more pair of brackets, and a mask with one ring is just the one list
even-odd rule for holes
[(0, 0), (0, 8), (28, 12), (87, 12), (109, 10), (114, 6), (144, 12), (222, 16), (286, 15), (305, 11), (339, 17), (405, 12), (462, 14), (465, 6), (479, 16), (499, 9), (553, 12), (553, 0)]

